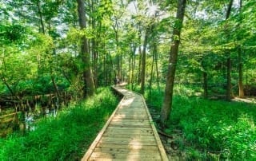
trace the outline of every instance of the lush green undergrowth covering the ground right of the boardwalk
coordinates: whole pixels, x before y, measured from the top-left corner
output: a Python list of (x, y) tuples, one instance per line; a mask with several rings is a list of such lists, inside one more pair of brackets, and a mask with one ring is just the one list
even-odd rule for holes
[[(182, 159), (255, 160), (255, 104), (206, 100), (195, 96), (198, 91), (174, 87), (173, 109), (165, 129), (174, 136), (169, 147), (177, 147)], [(163, 90), (155, 87), (150, 94), (147, 89), (145, 97), (148, 106), (159, 113)]]

